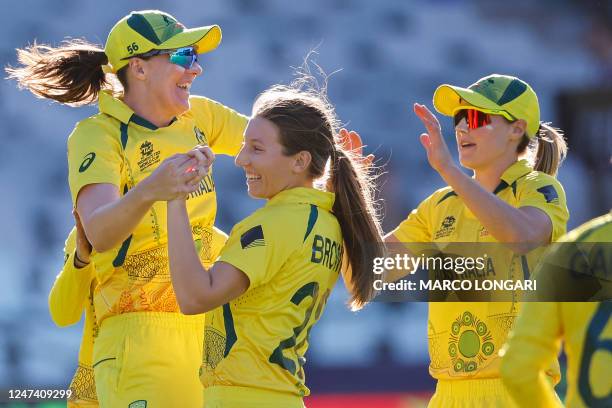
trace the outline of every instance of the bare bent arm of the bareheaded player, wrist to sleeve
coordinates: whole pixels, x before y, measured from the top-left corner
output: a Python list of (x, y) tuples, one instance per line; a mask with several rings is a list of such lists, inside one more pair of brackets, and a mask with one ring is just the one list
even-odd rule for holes
[(249, 278), (225, 262), (202, 265), (193, 243), (184, 200), (168, 201), (170, 275), (181, 312), (199, 314), (237, 298), (249, 288)]

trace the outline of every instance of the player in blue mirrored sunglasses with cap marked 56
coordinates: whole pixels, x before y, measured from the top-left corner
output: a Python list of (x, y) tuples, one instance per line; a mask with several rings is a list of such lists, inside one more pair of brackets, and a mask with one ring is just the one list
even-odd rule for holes
[(216, 25), (186, 29), (160, 11), (132, 12), (112, 28), (104, 50), (83, 41), (35, 44), (19, 50), (21, 67), (8, 70), (39, 97), (98, 101), (100, 113), (68, 139), (68, 165), (72, 202), (93, 246), (99, 330), (92, 361), (103, 407), (202, 405), (203, 316), (179, 312), (166, 205), (156, 202), (171, 197), (169, 182), (189, 194), (192, 240), (210, 242), (210, 158), (190, 149), (236, 155), (246, 126), (244, 116), (189, 92), (202, 73), (198, 54), (220, 41)]

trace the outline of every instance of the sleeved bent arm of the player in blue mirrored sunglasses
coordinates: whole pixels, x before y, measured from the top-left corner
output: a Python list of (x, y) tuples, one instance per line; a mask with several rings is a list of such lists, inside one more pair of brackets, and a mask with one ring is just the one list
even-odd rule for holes
[(154, 202), (197, 189), (204, 172), (186, 172), (202, 164), (202, 155), (196, 152), (167, 158), (122, 196), (119, 141), (95, 124), (85, 121), (77, 125), (68, 139), (70, 191), (94, 249), (108, 251), (127, 239)]

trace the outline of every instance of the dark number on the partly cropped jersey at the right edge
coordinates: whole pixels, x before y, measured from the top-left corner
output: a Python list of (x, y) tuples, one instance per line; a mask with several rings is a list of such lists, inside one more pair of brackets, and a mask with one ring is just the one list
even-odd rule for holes
[(598, 350), (605, 350), (612, 353), (612, 339), (601, 339), (599, 336), (604, 331), (612, 314), (612, 302), (600, 303), (593, 320), (589, 324), (584, 350), (582, 351), (582, 361), (580, 362), (580, 373), (578, 374), (578, 390), (587, 407), (609, 407), (612, 406), (612, 396), (606, 395), (597, 398), (593, 395), (589, 381), (589, 369), (593, 355)]

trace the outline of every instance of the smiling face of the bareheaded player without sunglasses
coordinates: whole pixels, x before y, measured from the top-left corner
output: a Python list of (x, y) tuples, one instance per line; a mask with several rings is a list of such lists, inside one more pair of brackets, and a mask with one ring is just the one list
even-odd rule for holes
[(236, 165), (245, 171), (249, 195), (270, 199), (283, 190), (303, 184), (304, 175), (295, 172), (295, 156), (286, 156), (278, 127), (262, 117), (249, 121)]

